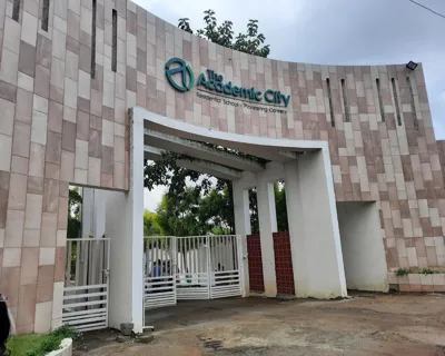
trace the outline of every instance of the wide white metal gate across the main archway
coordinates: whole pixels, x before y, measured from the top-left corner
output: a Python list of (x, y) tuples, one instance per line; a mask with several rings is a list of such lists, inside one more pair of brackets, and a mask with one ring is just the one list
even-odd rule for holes
[(145, 308), (240, 296), (240, 244), (236, 235), (146, 237)]

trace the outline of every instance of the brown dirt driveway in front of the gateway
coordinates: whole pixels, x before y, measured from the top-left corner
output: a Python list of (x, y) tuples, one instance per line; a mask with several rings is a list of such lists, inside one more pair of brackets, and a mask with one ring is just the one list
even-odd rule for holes
[(86, 335), (75, 355), (445, 356), (443, 295), (209, 300), (152, 310), (147, 317), (156, 327), (151, 344), (117, 345), (99, 333)]

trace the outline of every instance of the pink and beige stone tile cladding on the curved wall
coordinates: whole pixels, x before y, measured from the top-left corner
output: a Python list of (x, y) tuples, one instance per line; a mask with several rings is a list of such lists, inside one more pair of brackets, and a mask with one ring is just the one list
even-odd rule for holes
[[(90, 0), (0, 0), (0, 289), (19, 333), (60, 325), (68, 185), (128, 189), (127, 109), (241, 135), (328, 140), (336, 199), (377, 200), (388, 268), (445, 265), (445, 190), (422, 66), (334, 67), (255, 58), (182, 32), (127, 0), (97, 0), (91, 79)], [(111, 70), (112, 10), (118, 13)], [(281, 116), (208, 102), (165, 80), (171, 57), (198, 75), (291, 93)], [(414, 127), (413, 81), (418, 130)], [(330, 80), (335, 128), (326, 78)], [(382, 120), (376, 78), (380, 80)], [(390, 78), (396, 79), (397, 126)], [(346, 80), (350, 122), (339, 88)]]

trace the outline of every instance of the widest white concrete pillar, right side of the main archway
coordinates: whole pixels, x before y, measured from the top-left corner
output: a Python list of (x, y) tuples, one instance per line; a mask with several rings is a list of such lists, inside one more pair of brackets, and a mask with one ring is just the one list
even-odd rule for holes
[(346, 279), (327, 147), (285, 165), (295, 294), (345, 297)]

